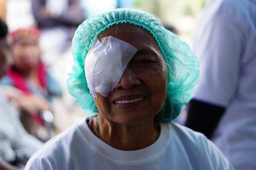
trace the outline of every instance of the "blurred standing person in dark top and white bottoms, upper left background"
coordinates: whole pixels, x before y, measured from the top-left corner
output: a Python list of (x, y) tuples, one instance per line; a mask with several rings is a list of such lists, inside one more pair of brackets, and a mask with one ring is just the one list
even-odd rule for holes
[(76, 28), (84, 21), (80, 0), (31, 0), (32, 12), (42, 30), (42, 50), (63, 52), (74, 36)]

